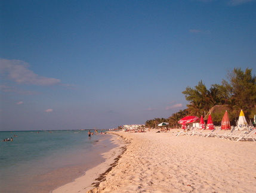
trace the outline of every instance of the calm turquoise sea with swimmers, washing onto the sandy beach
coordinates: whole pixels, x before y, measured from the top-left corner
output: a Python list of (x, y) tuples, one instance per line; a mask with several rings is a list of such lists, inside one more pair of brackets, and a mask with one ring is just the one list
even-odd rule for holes
[(88, 130), (0, 132), (0, 192), (50, 192), (104, 161), (101, 153), (116, 147), (111, 137), (88, 138)]

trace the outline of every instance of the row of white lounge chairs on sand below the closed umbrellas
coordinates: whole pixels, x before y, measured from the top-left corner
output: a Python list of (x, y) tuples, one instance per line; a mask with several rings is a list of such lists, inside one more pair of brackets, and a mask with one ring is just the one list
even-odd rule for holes
[(236, 127), (233, 127), (229, 132), (225, 132), (220, 134), (221, 127), (215, 127), (215, 129), (210, 130), (210, 131), (205, 131), (201, 130), (198, 127), (192, 127), (191, 130), (189, 131), (182, 131), (182, 132), (177, 132), (177, 133), (172, 133), (174, 136), (180, 136), (180, 135), (187, 135), (187, 136), (202, 136), (202, 137), (216, 137), (219, 139), (230, 139), (232, 141), (246, 141), (246, 140), (251, 140), (256, 142), (256, 129), (251, 129), (251, 130), (245, 130), (245, 131), (240, 131)]

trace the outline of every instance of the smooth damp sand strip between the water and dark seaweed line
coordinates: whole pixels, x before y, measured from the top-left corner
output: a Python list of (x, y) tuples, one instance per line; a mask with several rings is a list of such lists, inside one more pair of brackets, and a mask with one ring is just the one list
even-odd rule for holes
[(102, 155), (104, 161), (95, 167), (84, 172), (84, 175), (75, 178), (72, 182), (65, 183), (53, 190), (51, 193), (63, 193), (63, 192), (87, 192), (91, 189), (97, 188), (100, 182), (106, 179), (107, 173), (116, 166), (119, 158), (126, 151), (127, 142), (122, 139), (122, 136), (117, 135), (115, 132), (107, 132), (112, 135), (110, 141), (117, 147), (112, 150), (104, 152)]

